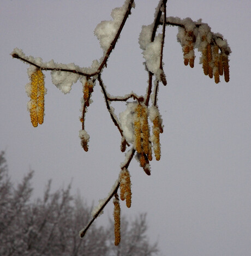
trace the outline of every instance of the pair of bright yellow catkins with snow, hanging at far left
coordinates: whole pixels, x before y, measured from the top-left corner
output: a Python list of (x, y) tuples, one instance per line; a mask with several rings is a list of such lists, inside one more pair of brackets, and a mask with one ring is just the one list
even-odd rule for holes
[(26, 85), (26, 92), (31, 98), (27, 107), (31, 116), (31, 123), (33, 127), (44, 122), (44, 94), (46, 89), (44, 87), (44, 74), (40, 69), (37, 69), (29, 76), (31, 82)]

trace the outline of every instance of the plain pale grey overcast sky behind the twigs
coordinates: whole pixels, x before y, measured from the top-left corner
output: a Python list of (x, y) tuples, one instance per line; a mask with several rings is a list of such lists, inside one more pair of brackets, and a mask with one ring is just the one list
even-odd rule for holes
[[(136, 0), (136, 8), (112, 52), (103, 81), (107, 91), (123, 96), (144, 95), (147, 72), (138, 44), (142, 25), (153, 21), (158, 0)], [(86, 115), (89, 151), (80, 147), (81, 84), (64, 95), (45, 72), (45, 120), (33, 128), (26, 111), (27, 65), (10, 56), (15, 47), (47, 62), (91, 65), (103, 54), (93, 31), (110, 20), (122, 0), (1, 1), (0, 15), (0, 150), (6, 152), (11, 179), (20, 182), (35, 170), (34, 197), (72, 179), (89, 204), (106, 197), (119, 173), (124, 154), (120, 135), (106, 110), (97, 85)], [(160, 86), (163, 117), (162, 159), (152, 161), (147, 176), (133, 160), (132, 207), (128, 217), (147, 212), (148, 236), (158, 241), (160, 255), (242, 255), (251, 251), (251, 82), (250, 0), (168, 1), (168, 16), (191, 17), (211, 26), (228, 40), (230, 81), (216, 85), (205, 76), (196, 52), (195, 67), (185, 67), (177, 28), (166, 28), (164, 71), (168, 86)], [(124, 104), (114, 105), (119, 111)], [(112, 217), (110, 203), (97, 224)], [(80, 229), (82, 227), (79, 227)], [(79, 230), (76, 230), (78, 232)], [(123, 237), (122, 237), (123, 239)]]

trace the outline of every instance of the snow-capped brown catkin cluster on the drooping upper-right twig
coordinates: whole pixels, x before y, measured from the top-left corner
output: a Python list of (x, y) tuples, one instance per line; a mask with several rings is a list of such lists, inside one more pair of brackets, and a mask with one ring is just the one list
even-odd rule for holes
[(206, 23), (193, 22), (186, 18), (181, 20), (183, 26), (179, 27), (177, 40), (181, 43), (184, 64), (194, 67), (194, 49), (201, 52), (200, 63), (204, 74), (214, 77), (216, 84), (220, 81), (219, 76), (224, 74), (226, 82), (229, 81), (230, 47), (223, 36), (211, 32)]

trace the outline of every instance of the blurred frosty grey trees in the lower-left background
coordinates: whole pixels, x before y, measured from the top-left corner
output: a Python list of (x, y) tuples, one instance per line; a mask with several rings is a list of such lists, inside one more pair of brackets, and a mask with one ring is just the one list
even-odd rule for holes
[[(146, 216), (129, 222), (122, 217), (124, 239), (113, 246), (113, 223), (107, 227), (92, 225), (86, 239), (80, 240), (77, 229), (88, 223), (91, 207), (80, 194), (71, 195), (70, 185), (51, 192), (51, 180), (43, 197), (31, 199), (28, 172), (17, 186), (11, 182), (4, 152), (0, 153), (0, 255), (156, 255), (157, 244), (146, 236)], [(132, 235), (133, 234), (133, 235)], [(137, 240), (132, 239), (137, 234)]]

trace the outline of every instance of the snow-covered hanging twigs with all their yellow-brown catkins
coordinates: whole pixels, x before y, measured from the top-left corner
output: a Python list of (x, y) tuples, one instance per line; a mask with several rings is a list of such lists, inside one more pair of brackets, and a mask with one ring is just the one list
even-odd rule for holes
[[(166, 17), (167, 0), (160, 0), (153, 15), (153, 22), (150, 25), (142, 26), (139, 35), (139, 46), (145, 58), (145, 69), (148, 73), (148, 84), (145, 96), (138, 96), (134, 92), (124, 96), (111, 96), (107, 90), (101, 74), (104, 67), (107, 67), (107, 59), (121, 36), (122, 29), (132, 8), (135, 8), (134, 0), (125, 0), (122, 7), (111, 11), (112, 20), (101, 21), (94, 30), (98, 38), (100, 47), (103, 49), (103, 56), (99, 61), (94, 59), (91, 67), (80, 67), (74, 63), (56, 63), (53, 59), (43, 62), (40, 57), (26, 56), (21, 49), (14, 49), (11, 53), (13, 58), (29, 64), (28, 77), (30, 82), (26, 85), (26, 92), (31, 98), (28, 102), (28, 110), (31, 122), (34, 127), (43, 123), (44, 119), (44, 97), (46, 88), (44, 87), (45, 71), (51, 72), (52, 84), (63, 93), (69, 93), (71, 87), (78, 80), (82, 85), (81, 98), (81, 129), (79, 137), (83, 150), (88, 151), (89, 135), (85, 130), (85, 118), (87, 108), (92, 103), (92, 93), (95, 90), (96, 82), (103, 93), (107, 111), (110, 113), (113, 124), (117, 127), (121, 135), (121, 151), (125, 152), (125, 160), (121, 163), (121, 171), (118, 179), (111, 188), (110, 193), (99, 201), (98, 206), (92, 212), (92, 219), (88, 225), (80, 231), (80, 237), (85, 236), (86, 231), (91, 227), (94, 220), (100, 216), (104, 207), (113, 198), (115, 207), (115, 245), (119, 244), (120, 237), (120, 205), (118, 189), (120, 189), (120, 199), (125, 200), (127, 207), (132, 203), (132, 191), (129, 174), (129, 164), (133, 157), (139, 161), (141, 168), (147, 175), (151, 175), (150, 162), (155, 159), (160, 160), (160, 134), (163, 133), (162, 116), (158, 108), (159, 84), (167, 84), (164, 73), (164, 42), (165, 31), (168, 26), (177, 26), (177, 41), (182, 46), (184, 64), (194, 67), (194, 49), (201, 52), (200, 64), (205, 75), (218, 84), (219, 77), (224, 75), (226, 82), (229, 81), (229, 55), (231, 53), (227, 41), (223, 35), (213, 33), (210, 26), (196, 22), (190, 18), (180, 19), (178, 17)], [(161, 33), (157, 34), (159, 26)], [(117, 117), (112, 107), (112, 102), (124, 102), (125, 110)], [(151, 104), (152, 103), (152, 104)], [(151, 124), (151, 125), (150, 125)]]

